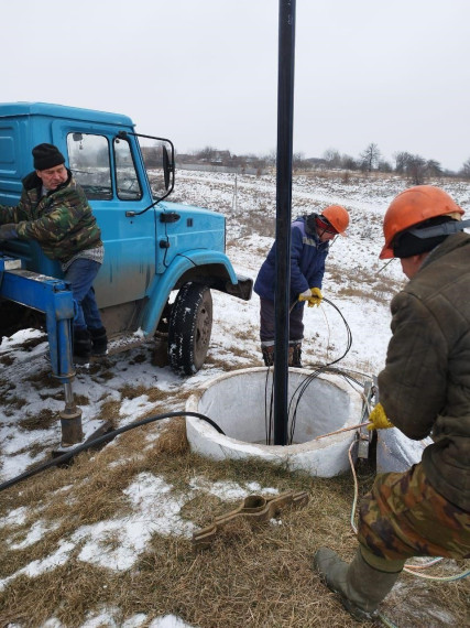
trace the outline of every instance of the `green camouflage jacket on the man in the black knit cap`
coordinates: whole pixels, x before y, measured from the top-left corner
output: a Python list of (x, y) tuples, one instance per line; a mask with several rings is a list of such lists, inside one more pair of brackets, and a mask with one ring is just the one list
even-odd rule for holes
[(85, 249), (102, 245), (85, 192), (68, 171), (68, 178), (42, 196), (42, 181), (35, 172), (23, 178), (23, 192), (15, 207), (0, 205), (0, 224), (14, 223), (18, 237), (34, 239), (51, 259), (66, 262)]

